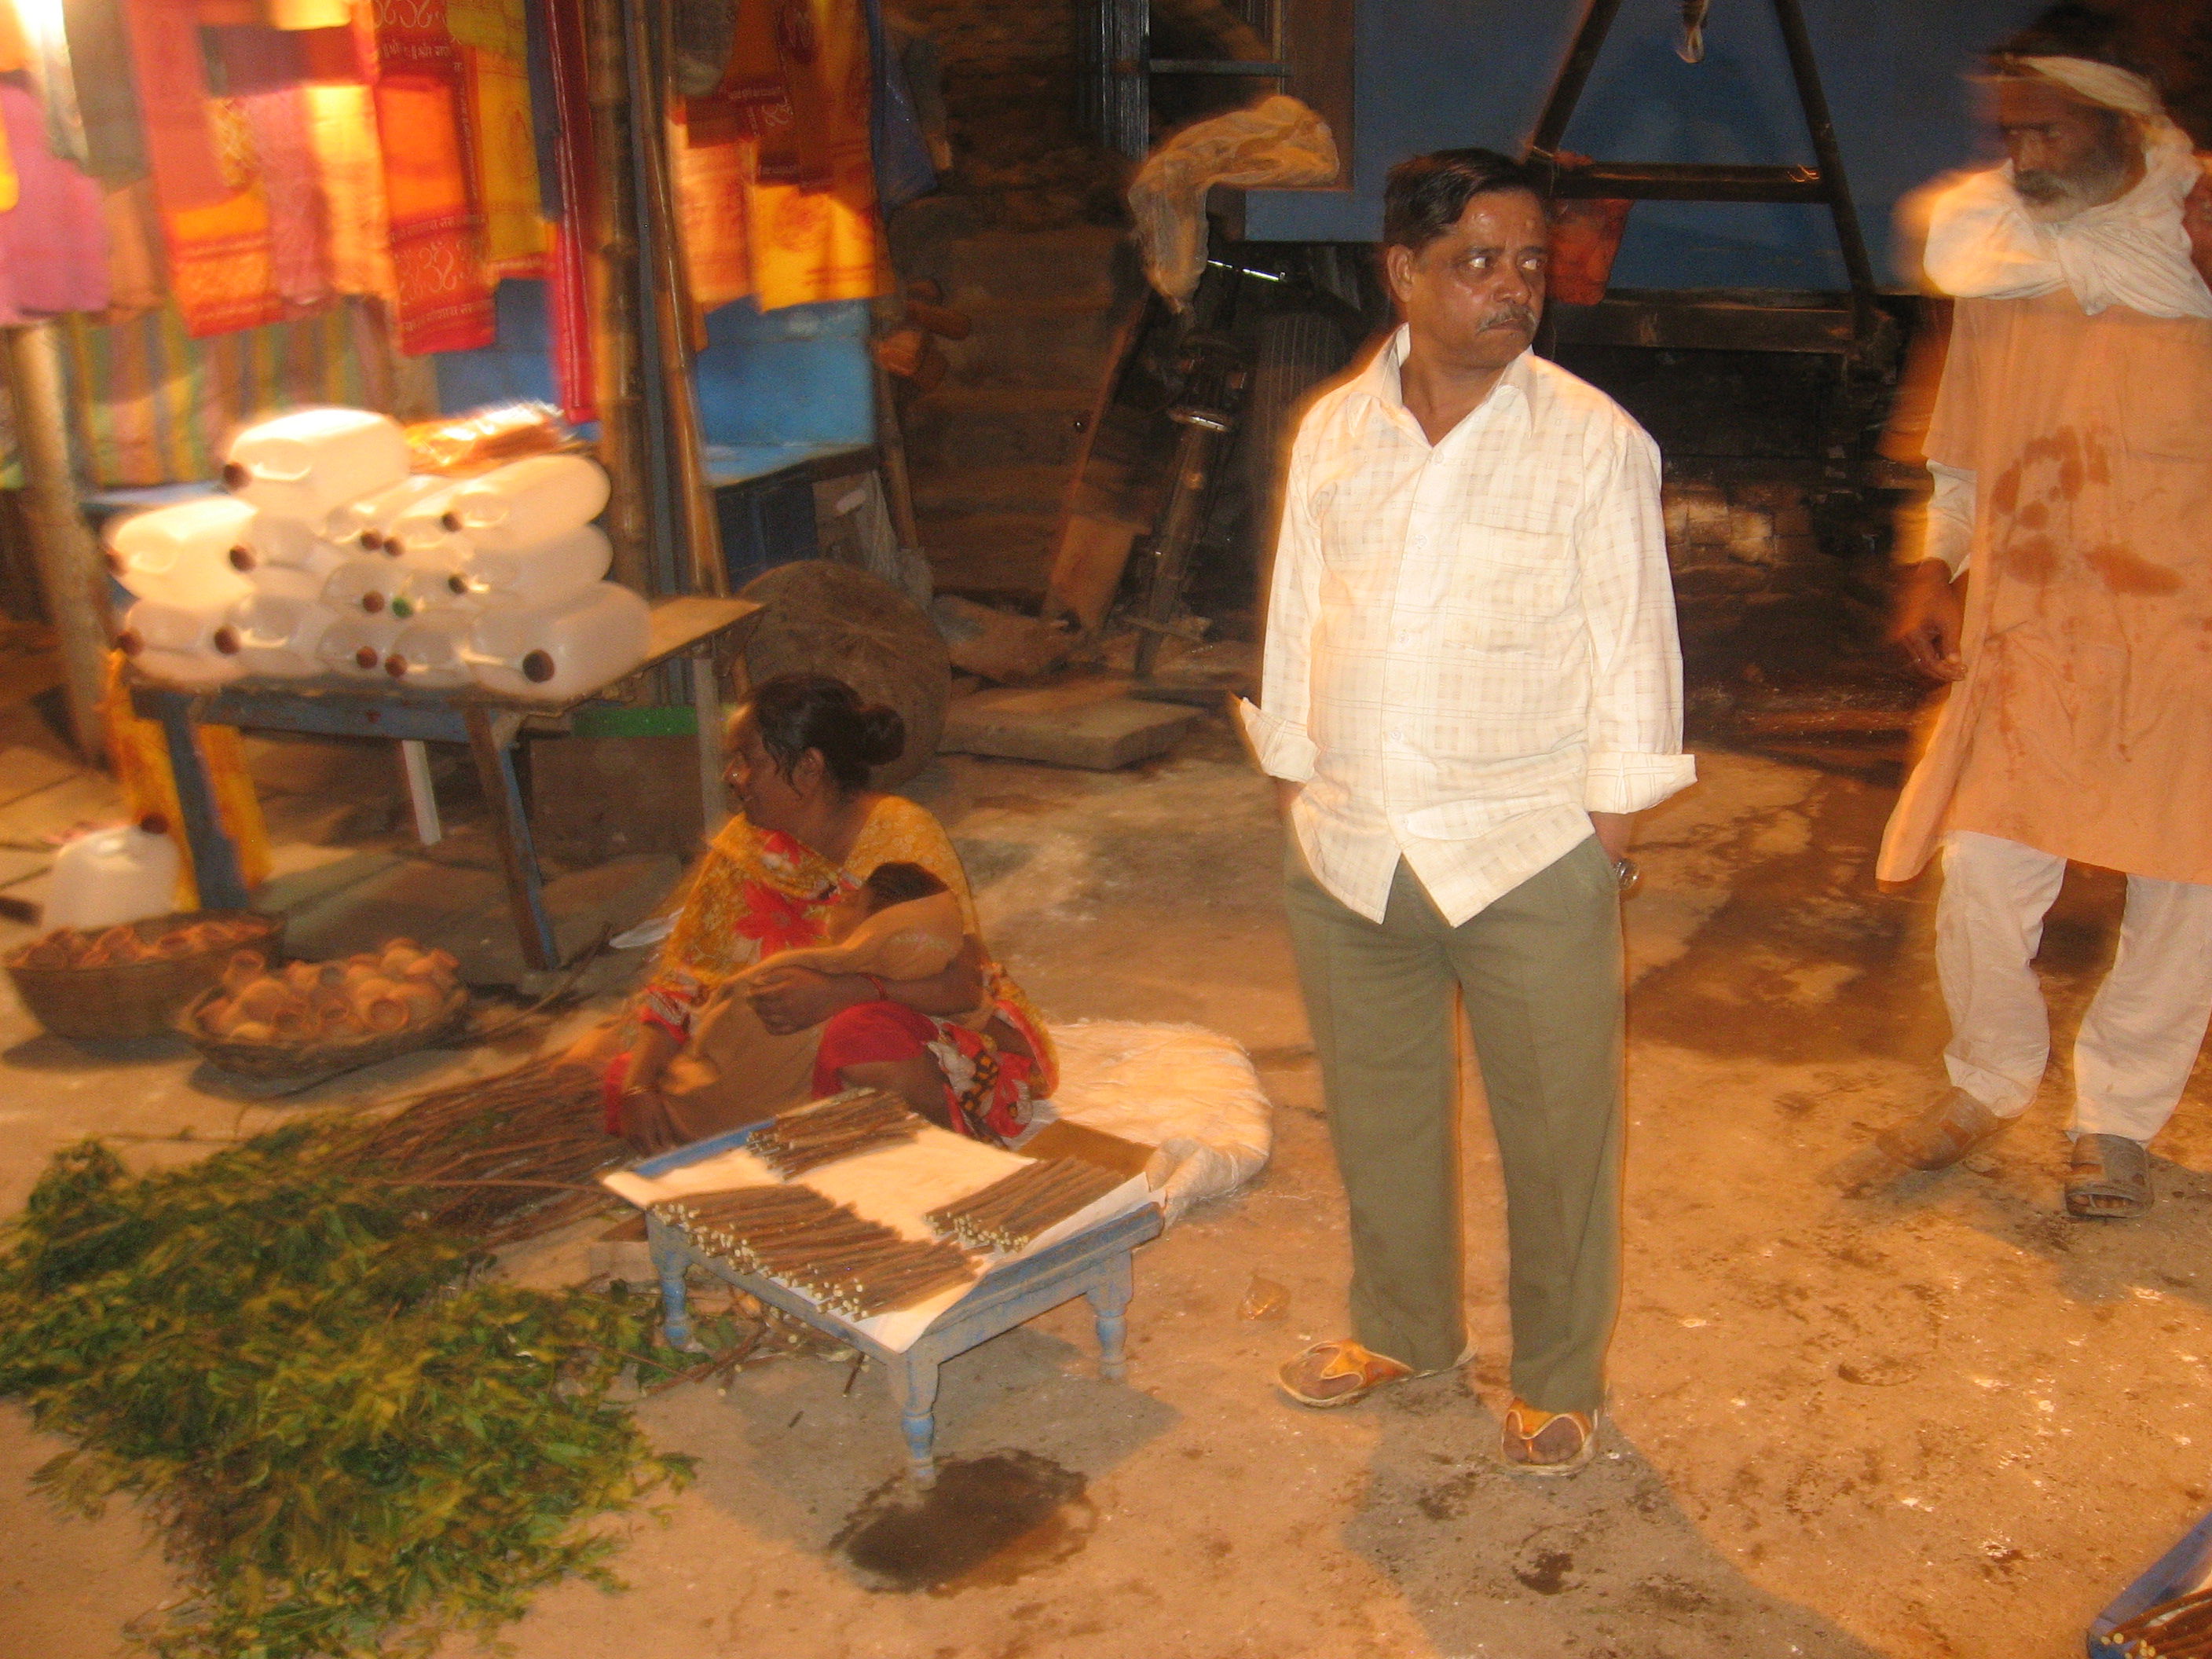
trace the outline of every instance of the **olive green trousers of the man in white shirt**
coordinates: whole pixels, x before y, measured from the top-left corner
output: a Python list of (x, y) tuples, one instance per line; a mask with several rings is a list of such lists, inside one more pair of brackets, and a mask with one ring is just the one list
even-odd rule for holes
[(1504, 1168), (1513, 1391), (1595, 1411), (1619, 1305), (1621, 905), (1595, 838), (1460, 927), (1400, 860), (1371, 922), (1287, 858), (1290, 938), (1352, 1208), (1352, 1334), (1442, 1371), (1460, 1294), (1453, 993)]

